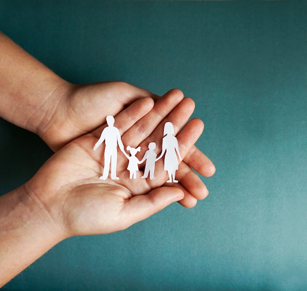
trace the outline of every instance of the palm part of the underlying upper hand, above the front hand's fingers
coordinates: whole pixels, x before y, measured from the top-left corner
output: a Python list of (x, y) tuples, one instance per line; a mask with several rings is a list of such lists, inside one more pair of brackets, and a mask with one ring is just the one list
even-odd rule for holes
[[(125, 82), (109, 81), (87, 85), (61, 82), (54, 90), (49, 120), (36, 130), (53, 151), (57, 151), (75, 138), (91, 132), (105, 122), (107, 115), (116, 116), (137, 99), (158, 96)], [(97, 147), (96, 147), (97, 149)]]

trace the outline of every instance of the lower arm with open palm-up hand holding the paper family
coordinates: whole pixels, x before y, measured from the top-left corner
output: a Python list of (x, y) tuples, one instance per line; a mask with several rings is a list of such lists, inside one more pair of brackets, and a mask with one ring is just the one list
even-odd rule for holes
[[(155, 141), (160, 151), (165, 122), (171, 121), (178, 132), (193, 110), (191, 99), (172, 90), (155, 104), (151, 98), (137, 100), (115, 116), (115, 126), (124, 144), (147, 148)], [(192, 207), (207, 195), (203, 182), (184, 161), (179, 164), (176, 184), (165, 184), (162, 160), (156, 162), (156, 180), (141, 179), (141, 171), (138, 179), (129, 179), (128, 160), (119, 151), (120, 180), (99, 180), (103, 146), (97, 151), (93, 146), (102, 129), (70, 142), (25, 185), (0, 197), (0, 286), (62, 239), (122, 230), (174, 201)], [(179, 151), (200, 173), (210, 175), (212, 162), (193, 149), (202, 130), (202, 121), (189, 121), (177, 134)]]

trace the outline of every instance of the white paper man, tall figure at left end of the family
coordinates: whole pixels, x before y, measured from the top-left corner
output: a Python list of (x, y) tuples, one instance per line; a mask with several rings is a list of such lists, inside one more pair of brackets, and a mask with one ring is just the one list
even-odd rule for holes
[(112, 115), (106, 117), (107, 127), (102, 131), (102, 134), (94, 146), (94, 151), (96, 151), (102, 142), (105, 142), (104, 148), (104, 168), (103, 174), (99, 177), (100, 180), (105, 180), (109, 175), (109, 168), (111, 163), (111, 179), (119, 180), (116, 176), (116, 166), (117, 166), (117, 145), (120, 150), (124, 153), (126, 157), (128, 155), (125, 153), (124, 145), (121, 139), (121, 134), (114, 126), (115, 119)]

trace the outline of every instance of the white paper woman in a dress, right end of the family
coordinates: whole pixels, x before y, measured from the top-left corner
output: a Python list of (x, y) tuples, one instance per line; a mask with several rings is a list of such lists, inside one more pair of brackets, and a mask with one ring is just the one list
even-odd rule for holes
[(173, 181), (174, 183), (178, 183), (178, 181), (175, 180), (176, 170), (178, 170), (179, 166), (177, 155), (180, 160), (182, 159), (179, 153), (178, 140), (174, 136), (174, 126), (171, 122), (165, 123), (163, 135), (165, 136), (162, 139), (162, 152), (160, 157), (156, 160), (161, 159), (165, 153), (164, 171), (167, 171), (169, 176), (169, 180), (166, 182), (172, 183)]

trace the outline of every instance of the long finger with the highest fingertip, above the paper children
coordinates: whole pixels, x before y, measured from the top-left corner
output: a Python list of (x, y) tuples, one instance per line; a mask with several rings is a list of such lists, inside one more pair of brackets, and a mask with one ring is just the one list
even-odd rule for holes
[[(168, 91), (155, 102), (153, 110), (141, 118), (134, 127), (125, 133), (123, 141), (127, 141), (130, 146), (138, 146), (149, 135), (151, 135), (152, 132), (158, 132), (161, 126), (163, 126), (161, 125), (161, 122), (181, 103), (182, 100), (184, 100), (184, 97), (180, 90), (172, 89)], [(159, 135), (161, 135), (160, 132)], [(154, 136), (152, 137), (154, 138)], [(161, 136), (159, 136), (159, 139), (160, 138)]]

